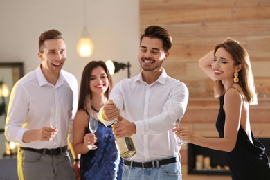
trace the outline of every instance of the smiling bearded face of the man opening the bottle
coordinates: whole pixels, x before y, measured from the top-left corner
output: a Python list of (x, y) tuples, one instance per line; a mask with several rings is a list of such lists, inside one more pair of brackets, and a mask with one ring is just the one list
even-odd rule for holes
[(160, 71), (168, 54), (164, 52), (161, 39), (143, 37), (138, 59), (144, 71)]

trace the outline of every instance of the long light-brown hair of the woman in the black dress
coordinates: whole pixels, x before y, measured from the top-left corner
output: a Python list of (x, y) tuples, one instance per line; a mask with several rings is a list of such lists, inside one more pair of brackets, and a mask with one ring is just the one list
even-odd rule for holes
[[(239, 82), (237, 82), (244, 92), (247, 101), (250, 105), (256, 105), (258, 103), (257, 92), (254, 84), (254, 78), (251, 70), (251, 62), (249, 54), (246, 49), (235, 39), (228, 37), (227, 39), (215, 47), (214, 54), (218, 48), (224, 48), (231, 54), (234, 60), (234, 65), (242, 64), (242, 69), (238, 72)], [(225, 93), (227, 89), (224, 89), (224, 85), (220, 80), (215, 81), (215, 98), (219, 98)]]

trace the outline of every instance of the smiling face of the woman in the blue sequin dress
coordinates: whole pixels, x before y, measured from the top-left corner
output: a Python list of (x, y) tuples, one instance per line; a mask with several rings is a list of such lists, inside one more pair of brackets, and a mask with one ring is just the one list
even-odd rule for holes
[(102, 66), (98, 66), (92, 70), (89, 86), (92, 95), (94, 93), (101, 94), (107, 91), (109, 87), (109, 80)]

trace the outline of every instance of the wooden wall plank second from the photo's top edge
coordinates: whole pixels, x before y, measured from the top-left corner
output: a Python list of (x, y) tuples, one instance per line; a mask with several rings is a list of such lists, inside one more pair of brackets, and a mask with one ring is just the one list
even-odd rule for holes
[(270, 7), (249, 7), (249, 8), (231, 8), (231, 7), (216, 7), (216, 8), (178, 8), (173, 10), (152, 9), (142, 10), (142, 24), (154, 24), (159, 21), (159, 24), (184, 24), (197, 23), (201, 21), (218, 22), (218, 21), (242, 21), (269, 19), (268, 12)]

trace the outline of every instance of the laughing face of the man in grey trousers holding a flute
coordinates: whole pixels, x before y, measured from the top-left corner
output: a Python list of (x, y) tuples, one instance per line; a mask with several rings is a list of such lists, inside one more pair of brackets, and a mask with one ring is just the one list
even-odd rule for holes
[(63, 39), (47, 39), (44, 42), (43, 52), (38, 53), (42, 61), (42, 72), (45, 77), (59, 75), (66, 61), (66, 44)]

